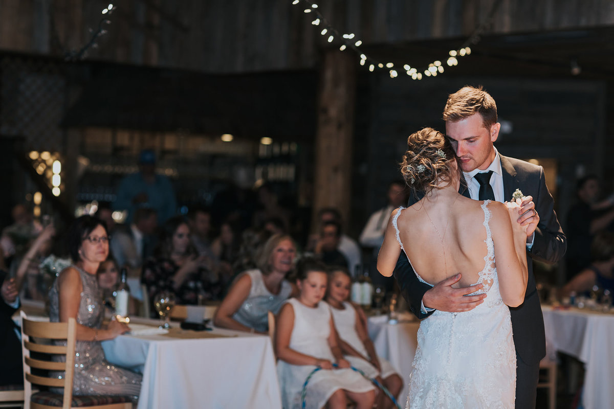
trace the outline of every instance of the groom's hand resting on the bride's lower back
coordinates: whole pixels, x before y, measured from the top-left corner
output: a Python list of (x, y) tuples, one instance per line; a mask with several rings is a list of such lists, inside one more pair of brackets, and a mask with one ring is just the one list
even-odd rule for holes
[(464, 312), (473, 310), (473, 308), (484, 302), (486, 294), (480, 294), (478, 296), (468, 296), (472, 292), (481, 290), (484, 286), (481, 284), (464, 287), (464, 288), (452, 288), (454, 283), (461, 280), (461, 273), (454, 275), (453, 277), (446, 278), (433, 288), (424, 293), (422, 297), (422, 304), (425, 308), (432, 308), (434, 310), (446, 311), (451, 313)]

